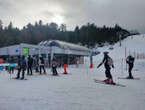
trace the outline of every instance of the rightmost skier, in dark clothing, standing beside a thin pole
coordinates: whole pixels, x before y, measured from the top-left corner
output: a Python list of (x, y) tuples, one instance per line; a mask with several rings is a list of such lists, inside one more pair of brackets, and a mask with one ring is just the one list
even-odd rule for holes
[(132, 69), (133, 69), (133, 66), (134, 66), (134, 57), (132, 55), (129, 55), (127, 58), (126, 58), (126, 63), (128, 64), (129, 68), (128, 68), (128, 73), (129, 73), (129, 76), (127, 77), (128, 79), (133, 79), (133, 76), (132, 76)]

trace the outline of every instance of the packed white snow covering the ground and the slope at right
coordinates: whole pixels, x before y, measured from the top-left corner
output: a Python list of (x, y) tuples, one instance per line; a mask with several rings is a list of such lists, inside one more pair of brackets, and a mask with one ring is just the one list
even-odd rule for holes
[[(15, 80), (17, 71), (10, 75), (0, 71), (0, 110), (145, 110), (145, 59), (137, 55), (145, 54), (145, 35), (130, 36), (120, 43), (98, 48), (101, 54), (93, 56), (94, 67), (89, 68), (89, 57), (85, 64), (68, 67), (68, 75), (52, 76), (34, 73), (28, 80)], [(125, 50), (126, 49), (126, 50)], [(114, 60), (111, 69), (116, 83), (126, 87), (98, 84), (94, 78), (104, 80), (104, 66), (96, 68), (103, 59), (103, 51), (109, 51)], [(136, 57), (133, 76), (140, 80), (118, 79), (128, 76), (126, 56)]]

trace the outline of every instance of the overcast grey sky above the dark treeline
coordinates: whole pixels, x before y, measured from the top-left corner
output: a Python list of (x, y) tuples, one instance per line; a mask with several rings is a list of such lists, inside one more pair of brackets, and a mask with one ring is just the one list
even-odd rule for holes
[(0, 0), (0, 19), (19, 28), (41, 19), (68, 29), (90, 22), (145, 33), (145, 0)]

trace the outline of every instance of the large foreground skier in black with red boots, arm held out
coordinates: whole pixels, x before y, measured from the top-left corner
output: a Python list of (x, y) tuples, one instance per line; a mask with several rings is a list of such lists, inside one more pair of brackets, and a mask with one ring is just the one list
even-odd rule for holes
[(109, 57), (108, 53), (109, 52), (107, 52), (107, 51), (104, 52), (104, 58), (103, 58), (102, 62), (97, 66), (97, 68), (99, 68), (104, 63), (105, 74), (107, 77), (107, 79), (105, 79), (104, 82), (106, 82), (107, 84), (114, 84), (115, 85), (113, 78), (112, 78), (112, 75), (111, 75), (111, 72), (110, 72), (111, 66), (112, 66), (112, 68), (114, 68), (113, 60)]

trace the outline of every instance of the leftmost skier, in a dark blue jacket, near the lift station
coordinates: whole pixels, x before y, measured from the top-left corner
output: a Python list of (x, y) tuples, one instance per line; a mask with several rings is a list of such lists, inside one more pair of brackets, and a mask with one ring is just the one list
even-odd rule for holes
[(25, 75), (25, 70), (26, 70), (26, 60), (25, 60), (25, 56), (22, 56), (21, 57), (18, 57), (18, 66), (19, 66), (19, 69), (18, 69), (18, 73), (17, 73), (17, 77), (16, 79), (19, 79), (20, 78), (20, 72), (22, 70), (22, 77), (21, 79), (23, 80), (24, 79), (24, 75)]

